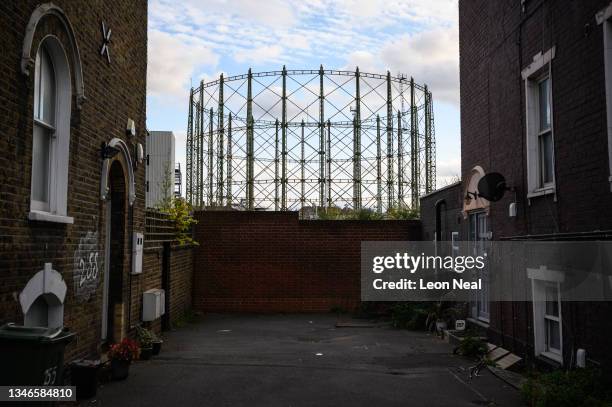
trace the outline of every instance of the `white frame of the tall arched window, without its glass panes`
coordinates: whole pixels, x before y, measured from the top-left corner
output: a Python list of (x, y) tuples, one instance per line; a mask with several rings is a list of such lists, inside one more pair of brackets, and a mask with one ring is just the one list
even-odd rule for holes
[[(53, 35), (44, 37), (39, 44), (39, 49), (41, 47), (45, 47), (55, 74), (55, 125), (50, 126), (48, 123), (34, 119), (34, 127), (44, 127), (47, 130), (51, 130), (52, 133), (49, 136), (50, 143), (48, 151), (48, 201), (41, 202), (35, 200), (32, 191), (30, 195), (30, 212), (28, 218), (35, 221), (73, 223), (74, 219), (67, 215), (70, 115), (72, 103), (70, 68), (66, 52), (57, 37)], [(32, 137), (34, 137), (33, 134)], [(34, 142), (33, 139), (32, 142)], [(35, 175), (34, 171), (32, 171), (32, 178), (35, 177)], [(32, 179), (32, 185), (33, 184), (34, 182)]]

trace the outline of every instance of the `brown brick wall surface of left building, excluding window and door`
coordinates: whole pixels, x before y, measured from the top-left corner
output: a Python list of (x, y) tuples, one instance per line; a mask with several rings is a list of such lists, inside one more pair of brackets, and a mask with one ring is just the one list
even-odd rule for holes
[[(73, 97), (68, 170), (69, 225), (28, 220), (32, 168), (33, 74), (20, 70), (26, 27), (38, 0), (0, 2), (0, 324), (22, 322), (19, 293), (28, 280), (50, 262), (68, 286), (64, 325), (77, 333), (66, 360), (98, 353), (102, 318), (101, 274), (104, 270), (105, 204), (100, 199), (100, 145), (113, 137), (130, 148), (146, 143), (147, 2), (54, 0), (74, 29), (83, 67), (85, 96), (82, 108)], [(101, 23), (112, 29), (111, 63), (100, 55)], [(44, 17), (36, 28), (33, 55), (42, 38), (55, 35), (68, 49), (68, 37), (59, 19)], [(72, 55), (68, 53), (72, 62)], [(72, 63), (70, 64), (73, 69)], [(74, 74), (74, 73), (73, 73)], [(125, 134), (127, 119), (136, 122), (136, 137)], [(144, 228), (144, 166), (134, 171), (136, 201), (133, 230)], [(126, 215), (127, 216), (127, 215)], [(124, 288), (128, 287), (129, 241), (132, 226), (125, 225)], [(97, 234), (99, 282), (87, 300), (75, 296), (76, 251), (81, 239)], [(136, 285), (134, 277), (131, 280)], [(127, 295), (127, 294), (126, 294)], [(127, 297), (125, 298), (127, 302)], [(138, 320), (131, 320), (136, 323)]]

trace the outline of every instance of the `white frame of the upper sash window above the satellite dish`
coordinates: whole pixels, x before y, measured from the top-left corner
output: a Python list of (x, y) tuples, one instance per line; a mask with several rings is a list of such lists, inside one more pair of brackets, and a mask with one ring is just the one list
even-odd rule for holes
[[(527, 145), (527, 198), (555, 194), (555, 132), (554, 132), (554, 105), (552, 98), (553, 78), (551, 62), (555, 57), (555, 47), (548, 51), (538, 53), (533, 62), (521, 72), (525, 82), (525, 122)], [(548, 104), (550, 107), (550, 129), (540, 131), (540, 103), (539, 85), (548, 79)], [(540, 152), (540, 136), (550, 132), (552, 143), (552, 181), (542, 183), (542, 167)]]

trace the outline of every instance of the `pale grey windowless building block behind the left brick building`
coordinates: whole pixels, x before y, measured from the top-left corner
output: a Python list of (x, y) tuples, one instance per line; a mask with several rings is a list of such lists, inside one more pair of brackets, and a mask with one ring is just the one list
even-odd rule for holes
[(170, 188), (174, 193), (175, 137), (171, 131), (151, 131), (147, 137), (145, 163), (147, 168), (147, 208), (156, 207), (164, 198), (164, 171), (170, 171)]

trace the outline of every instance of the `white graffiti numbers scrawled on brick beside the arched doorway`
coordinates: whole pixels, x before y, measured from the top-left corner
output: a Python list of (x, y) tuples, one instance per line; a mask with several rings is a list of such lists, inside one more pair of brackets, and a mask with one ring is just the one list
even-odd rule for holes
[(74, 252), (74, 295), (87, 301), (96, 292), (100, 281), (98, 232), (87, 232)]

